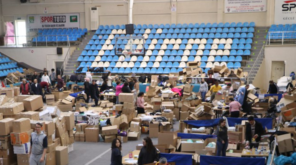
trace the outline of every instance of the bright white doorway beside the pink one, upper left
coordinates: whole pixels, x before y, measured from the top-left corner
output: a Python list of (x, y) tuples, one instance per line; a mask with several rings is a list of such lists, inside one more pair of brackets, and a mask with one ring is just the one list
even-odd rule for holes
[(15, 21), (15, 35), (17, 45), (22, 45), (23, 43), (27, 43), (26, 35), (26, 21), (25, 20), (16, 20)]

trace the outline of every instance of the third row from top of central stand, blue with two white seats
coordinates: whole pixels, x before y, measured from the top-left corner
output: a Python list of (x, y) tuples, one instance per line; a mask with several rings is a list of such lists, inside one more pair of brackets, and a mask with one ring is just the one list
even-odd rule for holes
[[(128, 37), (128, 36), (131, 36), (129, 34), (125, 35), (125, 34), (99, 34), (99, 35), (93, 35), (93, 37), (91, 39), (93, 40), (96, 40), (96, 39), (104, 39), (104, 40), (107, 40), (107, 39), (114, 39), (115, 37)], [(182, 33), (173, 33), (173, 34), (138, 34), (136, 35), (137, 37), (144, 37), (145, 39), (165, 39), (165, 38), (168, 38), (168, 39), (171, 39), (171, 38), (174, 38), (174, 39), (183, 39), (183, 38), (186, 38), (186, 39), (189, 39), (189, 38), (253, 38), (254, 35), (252, 32), (249, 32), (249, 33), (185, 33), (185, 34), (182, 34)]]

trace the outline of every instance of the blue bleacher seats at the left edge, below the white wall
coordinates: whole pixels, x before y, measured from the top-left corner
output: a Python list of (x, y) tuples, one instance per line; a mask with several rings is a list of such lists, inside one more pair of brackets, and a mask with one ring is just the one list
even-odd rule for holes
[(23, 73), (23, 68), (17, 66), (17, 62), (2, 56), (0, 53), (0, 77), (7, 76), (9, 73), (19, 71)]

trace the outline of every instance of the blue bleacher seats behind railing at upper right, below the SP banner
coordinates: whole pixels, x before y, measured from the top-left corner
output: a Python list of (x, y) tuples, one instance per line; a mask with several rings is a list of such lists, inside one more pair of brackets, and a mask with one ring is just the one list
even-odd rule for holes
[[(269, 33), (269, 32), (284, 32), (284, 33)], [(284, 36), (283, 36), (284, 35)], [(296, 24), (286, 24), (286, 25), (271, 25), (268, 30), (268, 35), (266, 39), (270, 40), (282, 40), (286, 39), (296, 39)]]

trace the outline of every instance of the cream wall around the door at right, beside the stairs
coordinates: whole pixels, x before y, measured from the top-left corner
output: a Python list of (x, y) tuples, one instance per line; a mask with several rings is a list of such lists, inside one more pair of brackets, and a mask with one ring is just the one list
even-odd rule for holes
[(254, 85), (261, 89), (268, 88), (268, 81), (271, 79), (272, 61), (285, 61), (285, 76), (296, 71), (296, 46), (295, 45), (271, 45), (266, 46), (264, 50), (265, 58), (255, 77)]

